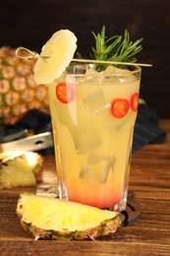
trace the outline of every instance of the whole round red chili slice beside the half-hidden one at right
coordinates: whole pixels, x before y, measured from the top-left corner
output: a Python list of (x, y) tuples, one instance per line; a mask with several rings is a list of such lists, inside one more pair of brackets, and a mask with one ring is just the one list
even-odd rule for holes
[(124, 117), (130, 108), (129, 101), (126, 98), (116, 98), (111, 103), (111, 113), (117, 117)]

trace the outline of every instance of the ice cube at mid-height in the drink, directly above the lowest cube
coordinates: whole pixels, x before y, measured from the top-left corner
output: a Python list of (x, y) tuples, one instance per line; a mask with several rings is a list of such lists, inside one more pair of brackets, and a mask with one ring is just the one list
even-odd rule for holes
[(99, 131), (95, 128), (70, 126), (69, 131), (75, 143), (78, 154), (92, 151), (102, 144)]

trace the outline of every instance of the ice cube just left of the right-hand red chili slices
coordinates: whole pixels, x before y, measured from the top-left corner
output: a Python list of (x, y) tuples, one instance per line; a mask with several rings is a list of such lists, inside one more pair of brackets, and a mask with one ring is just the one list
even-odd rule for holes
[(110, 103), (105, 98), (102, 90), (97, 90), (91, 95), (85, 96), (83, 100), (86, 109), (92, 114), (96, 114), (110, 106)]

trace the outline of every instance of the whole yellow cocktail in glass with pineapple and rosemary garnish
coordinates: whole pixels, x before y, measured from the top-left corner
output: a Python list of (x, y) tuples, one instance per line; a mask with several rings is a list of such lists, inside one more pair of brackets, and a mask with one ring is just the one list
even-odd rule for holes
[(49, 85), (59, 197), (123, 211), (141, 79), (132, 62), (142, 39), (132, 42), (128, 32), (106, 39), (105, 27), (93, 35), (89, 61), (73, 58), (73, 32), (55, 32), (40, 55), (30, 52), (34, 80)]

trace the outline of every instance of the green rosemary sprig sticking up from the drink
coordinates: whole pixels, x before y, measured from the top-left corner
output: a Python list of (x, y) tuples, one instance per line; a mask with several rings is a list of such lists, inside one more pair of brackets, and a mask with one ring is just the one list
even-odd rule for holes
[(133, 42), (127, 31), (124, 36), (115, 35), (107, 39), (105, 26), (103, 26), (100, 33), (92, 32), (92, 34), (95, 39), (95, 47), (91, 47), (90, 57), (92, 59), (133, 63), (137, 61), (137, 53), (142, 50), (142, 38)]

